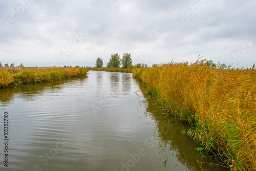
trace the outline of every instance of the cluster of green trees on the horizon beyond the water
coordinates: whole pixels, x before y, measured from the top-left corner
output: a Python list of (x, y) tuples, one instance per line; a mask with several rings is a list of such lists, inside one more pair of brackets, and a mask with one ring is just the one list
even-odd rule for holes
[[(131, 57), (131, 53), (124, 53), (122, 58), (118, 53), (112, 54), (108, 63), (106, 63), (106, 68), (120, 68), (122, 65), (123, 69), (126, 68), (147, 68), (148, 66), (145, 63), (137, 63), (133, 66), (133, 60)], [(98, 57), (95, 63), (96, 68), (103, 67), (103, 59)]]

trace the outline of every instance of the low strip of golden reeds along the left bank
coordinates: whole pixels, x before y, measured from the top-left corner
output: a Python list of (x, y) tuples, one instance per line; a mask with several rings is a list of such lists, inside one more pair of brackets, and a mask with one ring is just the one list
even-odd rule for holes
[(0, 68), (0, 88), (84, 76), (85, 68)]

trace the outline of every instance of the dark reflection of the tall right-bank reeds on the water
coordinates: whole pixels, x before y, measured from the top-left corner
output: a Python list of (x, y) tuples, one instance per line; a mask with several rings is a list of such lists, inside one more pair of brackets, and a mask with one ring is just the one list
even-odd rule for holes
[[(143, 84), (139, 84), (142, 92), (145, 89)], [(146, 96), (144, 94), (144, 96)], [(229, 170), (223, 166), (223, 160), (217, 157), (212, 157), (211, 153), (200, 154), (196, 148), (199, 146), (189, 136), (182, 133), (189, 129), (189, 125), (177, 121), (172, 115), (167, 115), (166, 111), (157, 108), (156, 99), (147, 96), (147, 113), (152, 116), (155, 121), (155, 135), (159, 140), (159, 154), (164, 156), (163, 164), (167, 167), (170, 157), (177, 159), (177, 164), (186, 167), (187, 170)], [(214, 163), (214, 164), (200, 164)]]

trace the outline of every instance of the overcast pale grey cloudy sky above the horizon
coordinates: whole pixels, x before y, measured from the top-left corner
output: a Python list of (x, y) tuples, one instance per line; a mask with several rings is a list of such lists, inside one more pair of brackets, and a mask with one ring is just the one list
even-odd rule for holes
[(256, 63), (255, 0), (0, 0), (0, 62), (25, 67), (201, 59)]

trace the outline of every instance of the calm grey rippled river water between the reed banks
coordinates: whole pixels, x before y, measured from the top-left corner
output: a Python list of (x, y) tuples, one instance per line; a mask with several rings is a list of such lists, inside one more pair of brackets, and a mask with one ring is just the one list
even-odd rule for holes
[[(76, 78), (0, 90), (0, 170), (201, 170), (221, 164), (161, 115), (131, 73), (90, 71)], [(8, 112), (8, 167), (4, 166)], [(204, 170), (226, 170), (202, 164)]]

